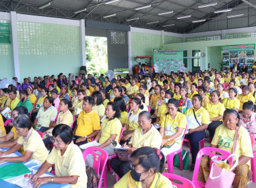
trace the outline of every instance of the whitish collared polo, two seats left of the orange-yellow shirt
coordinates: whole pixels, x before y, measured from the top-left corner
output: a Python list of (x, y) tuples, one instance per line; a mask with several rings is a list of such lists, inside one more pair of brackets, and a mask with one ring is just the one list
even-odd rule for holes
[(46, 111), (44, 111), (44, 107), (40, 107), (36, 118), (38, 118), (38, 125), (42, 125), (45, 128), (49, 128), (50, 123), (54, 122), (56, 117), (57, 117), (57, 109), (51, 105), (51, 107), (49, 107), (49, 109), (46, 109)]

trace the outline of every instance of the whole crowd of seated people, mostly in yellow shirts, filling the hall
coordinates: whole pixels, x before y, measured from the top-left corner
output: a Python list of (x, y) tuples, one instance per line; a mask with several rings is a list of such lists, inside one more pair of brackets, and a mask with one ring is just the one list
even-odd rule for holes
[[(92, 167), (94, 158), (89, 155), (85, 163), (79, 146), (95, 140), (94, 146), (110, 156), (115, 154), (110, 140), (121, 140), (131, 161), (110, 160), (110, 167), (121, 178), (114, 187), (125, 187), (127, 180), (128, 187), (148, 186), (156, 177), (160, 182), (155, 187), (168, 187), (171, 183), (161, 173), (168, 171), (166, 157), (183, 147), (183, 138), (190, 142), (193, 171), (199, 142), (207, 134), (211, 147), (232, 152), (238, 129), (239, 163), (232, 186), (244, 187), (251, 178), (250, 158), (256, 151), (249, 136), (256, 138), (256, 70), (247, 73), (235, 68), (226, 73), (212, 69), (167, 75), (161, 71), (154, 77), (141, 69), (138, 75), (112, 80), (80, 74), (70, 83), (62, 73), (57, 79), (52, 75), (31, 81), (28, 77), (22, 84), (13, 78), (16, 86), (0, 89), (0, 111), (9, 107), (13, 115), (13, 122), (5, 127), (6, 119), (0, 116), (0, 147), (10, 148), (1, 152), (0, 162), (37, 159), (44, 162), (33, 177), (38, 185), (65, 180), (83, 187), (86, 174), (78, 172), (84, 171), (85, 164)], [(42, 132), (43, 140), (36, 131)], [(67, 171), (58, 156), (70, 154), (69, 150), (73, 151), (69, 166), (73, 166)], [(15, 151), (23, 156), (4, 157)], [(207, 157), (201, 160), (200, 181), (207, 180), (209, 162)], [(40, 178), (53, 164), (57, 177)]]

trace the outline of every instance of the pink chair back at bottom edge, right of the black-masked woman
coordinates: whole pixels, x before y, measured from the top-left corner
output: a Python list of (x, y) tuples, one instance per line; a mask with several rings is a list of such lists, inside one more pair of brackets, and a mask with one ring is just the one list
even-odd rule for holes
[[(195, 185), (189, 179), (185, 179), (185, 177), (181, 177), (179, 175), (174, 175), (170, 173), (162, 173), (165, 177), (170, 179), (172, 185), (176, 185), (178, 188), (195, 188)], [(173, 180), (179, 181), (180, 183), (174, 183)]]

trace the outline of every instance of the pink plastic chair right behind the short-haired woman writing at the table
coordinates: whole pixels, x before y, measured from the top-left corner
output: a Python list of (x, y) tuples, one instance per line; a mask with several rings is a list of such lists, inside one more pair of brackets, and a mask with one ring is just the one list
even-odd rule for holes
[[(96, 151), (100, 152), (100, 154), (96, 153)], [(86, 150), (84, 150), (83, 152), (85, 162), (88, 154), (92, 154), (94, 156), (94, 164), (92, 167), (95, 169), (95, 172), (96, 174), (98, 174), (98, 177), (100, 177), (99, 183), (98, 183), (98, 188), (100, 188), (102, 184), (104, 171), (106, 171), (106, 161), (108, 160), (108, 153), (105, 150), (102, 150), (101, 148), (96, 148), (96, 147), (86, 148)], [(101, 173), (100, 173), (100, 170), (101, 170)], [(104, 179), (102, 185), (103, 185), (102, 187), (108, 187), (106, 179)]]

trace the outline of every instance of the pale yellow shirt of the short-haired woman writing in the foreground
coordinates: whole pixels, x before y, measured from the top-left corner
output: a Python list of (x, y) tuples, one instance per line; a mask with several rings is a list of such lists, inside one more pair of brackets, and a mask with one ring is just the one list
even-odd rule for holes
[(86, 188), (87, 175), (86, 164), (83, 154), (78, 146), (71, 142), (61, 156), (61, 150), (53, 150), (47, 158), (47, 162), (55, 164), (55, 174), (57, 177), (78, 176), (77, 183), (70, 184), (70, 188)]

